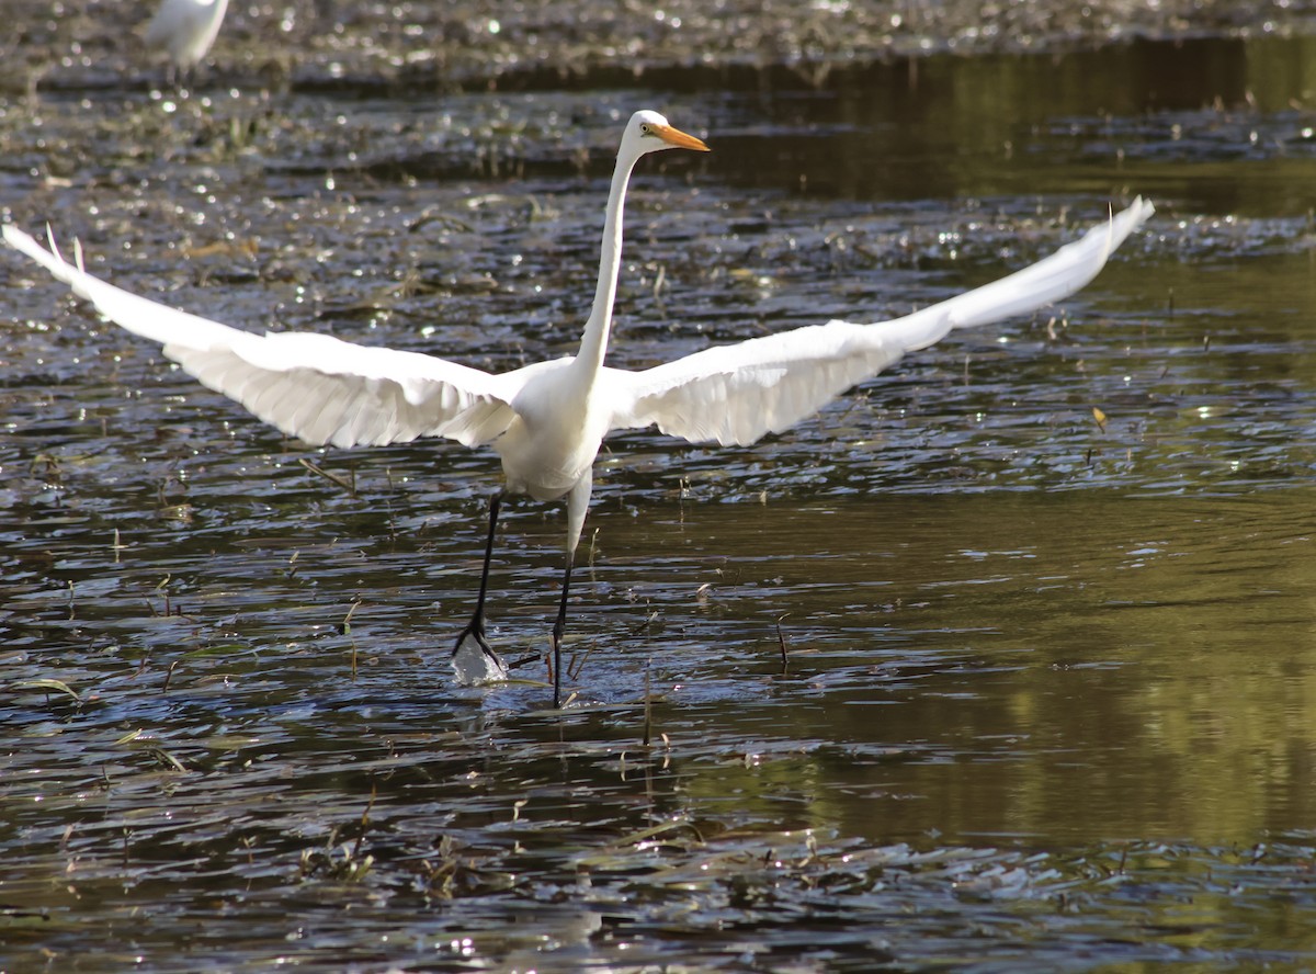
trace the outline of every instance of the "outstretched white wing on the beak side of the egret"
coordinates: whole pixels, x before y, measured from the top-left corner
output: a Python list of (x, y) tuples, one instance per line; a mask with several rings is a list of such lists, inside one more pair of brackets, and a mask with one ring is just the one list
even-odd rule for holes
[(778, 433), (951, 329), (1025, 315), (1074, 294), (1153, 212), (1138, 197), (1108, 224), (1030, 267), (894, 321), (829, 321), (707, 349), (642, 372), (608, 370), (620, 394), (612, 429), (657, 424), (692, 442), (736, 445)]

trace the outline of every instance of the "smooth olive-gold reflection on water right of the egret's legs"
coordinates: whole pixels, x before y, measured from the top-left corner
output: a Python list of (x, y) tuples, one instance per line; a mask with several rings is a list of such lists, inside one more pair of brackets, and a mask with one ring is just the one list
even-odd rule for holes
[[(744, 620), (745, 645), (678, 669), (703, 686), (674, 692), (665, 717), (707, 709), (719, 734), (770, 753), (732, 775), (746, 802), (807, 794), (803, 823), (879, 841), (936, 829), (1209, 844), (1296, 823), (1316, 744), (1303, 716), (1316, 688), (1309, 501), (1186, 509), (1069, 494), (688, 511), (659, 523), (675, 541), (653, 525), (649, 545), (684, 551), (684, 611), (707, 613), (694, 594), (712, 584), (707, 602)], [(717, 557), (725, 566), (699, 570)], [(697, 632), (678, 611), (663, 607), (667, 632)], [(671, 657), (655, 666), (678, 667)], [(737, 678), (780, 712), (765, 723), (742, 692), (726, 707), (709, 690)], [(791, 741), (815, 744), (794, 754)], [(699, 775), (691, 791), (725, 794), (730, 774)]]

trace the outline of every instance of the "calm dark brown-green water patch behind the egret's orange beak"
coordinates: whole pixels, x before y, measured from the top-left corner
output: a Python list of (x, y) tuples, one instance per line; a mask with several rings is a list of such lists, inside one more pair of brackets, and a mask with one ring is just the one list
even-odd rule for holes
[[(861, 200), (1098, 196), (1136, 187), (1194, 212), (1313, 205), (1312, 38), (1134, 42), (770, 76), (721, 111), (709, 161), (736, 184)], [(750, 118), (745, 128), (745, 120)], [(1250, 162), (1244, 168), (1236, 162)]]

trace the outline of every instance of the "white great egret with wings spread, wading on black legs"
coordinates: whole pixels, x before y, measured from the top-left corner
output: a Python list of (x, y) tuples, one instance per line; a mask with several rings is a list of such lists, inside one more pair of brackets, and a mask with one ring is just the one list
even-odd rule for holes
[[(1109, 254), (1152, 216), (1141, 197), (1080, 240), (1008, 278), (882, 324), (829, 321), (704, 351), (640, 372), (605, 366), (612, 304), (621, 266), (621, 212), (640, 157), (663, 149), (708, 147), (657, 112), (626, 122), (604, 215), (599, 284), (574, 357), (490, 375), (415, 351), (366, 347), (305, 332), (241, 332), (167, 308), (107, 284), (47, 251), (14, 226), (11, 246), (37, 261), (105, 317), (161, 342), (164, 355), (205, 386), (245, 405), (284, 433), (313, 444), (354, 446), (417, 437), (491, 444), (505, 490), (536, 500), (567, 499), (566, 569), (553, 625), (553, 703), (562, 700), (562, 634), (571, 566), (591, 469), (603, 438), (617, 429), (658, 426), (694, 442), (746, 445), (821, 408), (907, 351), (954, 328), (1024, 315), (1087, 284)], [(484, 634), (484, 599), (501, 491), (490, 503), (479, 595), (453, 646), (480, 649), (487, 674), (503, 674)], [(461, 671), (461, 667), (458, 667)]]

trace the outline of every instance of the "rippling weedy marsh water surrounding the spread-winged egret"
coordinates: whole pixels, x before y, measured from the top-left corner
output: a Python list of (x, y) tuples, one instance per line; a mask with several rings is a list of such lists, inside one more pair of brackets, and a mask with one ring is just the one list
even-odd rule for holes
[[(619, 365), (1158, 216), (755, 448), (611, 440), (561, 713), (451, 679), (488, 454), (287, 442), (5, 255), (3, 966), (1316, 963), (1311, 46), (5, 100), (95, 272), (490, 369), (572, 349), (638, 105), (715, 151), (642, 166)], [(511, 658), (561, 534), (508, 511)]]

